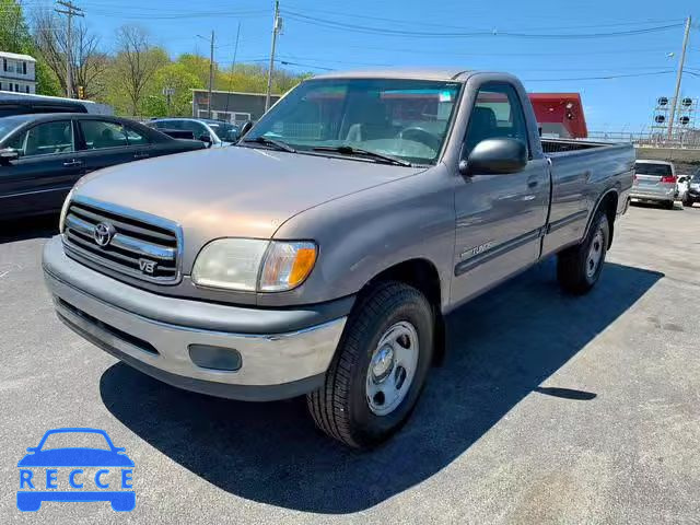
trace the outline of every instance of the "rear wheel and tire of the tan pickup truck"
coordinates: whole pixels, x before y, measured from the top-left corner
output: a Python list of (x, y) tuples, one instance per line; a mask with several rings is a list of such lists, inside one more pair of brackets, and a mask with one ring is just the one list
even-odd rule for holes
[(564, 291), (575, 295), (591, 291), (603, 271), (609, 240), (608, 218), (598, 210), (586, 238), (564, 249), (557, 258), (557, 279)]

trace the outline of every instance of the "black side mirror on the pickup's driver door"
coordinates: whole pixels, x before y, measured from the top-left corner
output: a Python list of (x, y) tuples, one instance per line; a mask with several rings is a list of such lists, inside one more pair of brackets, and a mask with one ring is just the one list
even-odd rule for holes
[(479, 142), (467, 160), (459, 161), (463, 175), (517, 173), (527, 165), (527, 147), (517, 139), (487, 139)]

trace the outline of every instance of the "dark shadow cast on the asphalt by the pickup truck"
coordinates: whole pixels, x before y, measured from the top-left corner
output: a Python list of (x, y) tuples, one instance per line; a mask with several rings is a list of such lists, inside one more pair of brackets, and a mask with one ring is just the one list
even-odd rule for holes
[[(430, 478), (618, 319), (663, 275), (606, 264), (584, 298), (562, 294), (546, 261), (460, 308), (450, 353), (408, 424), (369, 452), (315, 431), (304, 399), (246, 404), (170, 387), (118, 363), (101, 378), (107, 409), (174, 462), (253, 501), (330, 514), (365, 510)], [(562, 402), (605, 392), (539, 388)], [(568, 387), (568, 388), (567, 388)]]

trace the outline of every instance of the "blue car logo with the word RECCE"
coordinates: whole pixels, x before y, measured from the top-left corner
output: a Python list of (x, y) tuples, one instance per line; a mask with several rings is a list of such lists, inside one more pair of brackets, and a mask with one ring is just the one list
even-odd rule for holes
[[(96, 439), (103, 447), (48, 447), (47, 440), (57, 435), (69, 441), (81, 435)], [(28, 454), (18, 463), (20, 511), (38, 511), (44, 501), (108, 501), (117, 512), (129, 512), (136, 506), (131, 485), (133, 462), (125, 448), (114, 445), (104, 430), (52, 429), (44, 434), (37, 446), (26, 451)]]

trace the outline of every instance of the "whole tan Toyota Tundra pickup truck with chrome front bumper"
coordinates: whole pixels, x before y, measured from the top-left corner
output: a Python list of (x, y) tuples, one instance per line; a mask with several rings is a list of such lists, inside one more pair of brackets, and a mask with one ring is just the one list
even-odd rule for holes
[(45, 277), (59, 317), (131, 366), (306, 394), (322, 430), (368, 447), (411, 413), (447, 314), (553, 254), (564, 290), (595, 285), (633, 166), (631, 144), (540, 140), (510, 74), (334, 73), (237, 147), (79, 184)]

